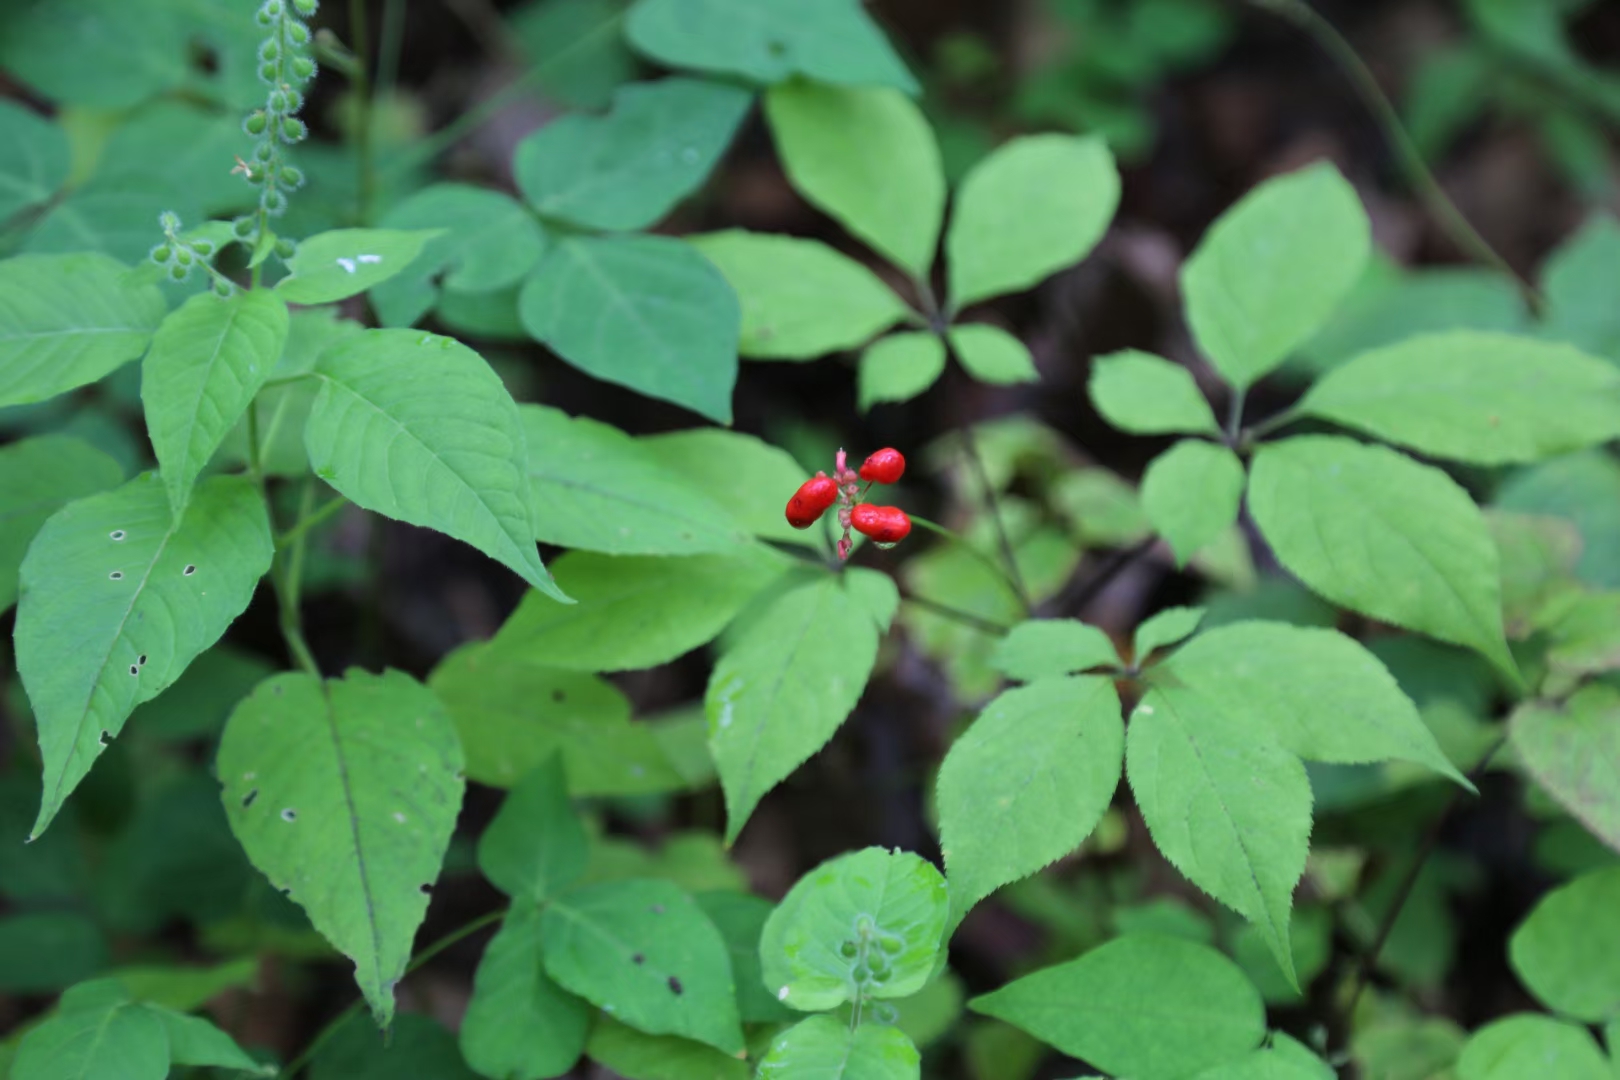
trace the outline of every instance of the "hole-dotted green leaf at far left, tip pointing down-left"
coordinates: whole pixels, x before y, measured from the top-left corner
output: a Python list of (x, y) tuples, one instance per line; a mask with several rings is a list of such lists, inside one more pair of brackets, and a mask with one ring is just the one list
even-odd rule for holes
[(246, 609), (271, 568), (271, 523), (246, 478), (201, 484), (178, 523), (156, 473), (58, 510), (19, 572), (16, 667), (62, 808), (134, 706), (151, 701)]

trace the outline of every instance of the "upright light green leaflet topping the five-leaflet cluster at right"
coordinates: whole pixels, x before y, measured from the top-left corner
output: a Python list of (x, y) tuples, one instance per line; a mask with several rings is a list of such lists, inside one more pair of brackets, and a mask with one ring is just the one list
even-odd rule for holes
[(1371, 243), (1367, 212), (1332, 165), (1262, 183), (1181, 267), (1192, 337), (1234, 389), (1247, 389), (1327, 322)]

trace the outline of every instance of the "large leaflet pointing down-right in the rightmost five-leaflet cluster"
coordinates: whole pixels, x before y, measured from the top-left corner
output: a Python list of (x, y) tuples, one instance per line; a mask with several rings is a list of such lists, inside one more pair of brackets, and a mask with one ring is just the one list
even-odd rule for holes
[(1249, 512), (1278, 562), (1353, 610), (1477, 649), (1516, 678), (1497, 549), (1450, 476), (1335, 436), (1262, 445)]

